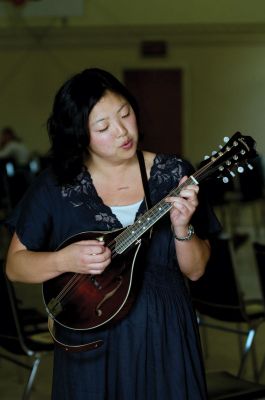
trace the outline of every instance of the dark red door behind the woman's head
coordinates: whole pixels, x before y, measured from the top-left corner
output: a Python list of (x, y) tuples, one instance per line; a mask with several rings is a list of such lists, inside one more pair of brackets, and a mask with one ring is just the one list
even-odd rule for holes
[(182, 153), (181, 70), (124, 71), (124, 83), (140, 107), (141, 147), (155, 153)]

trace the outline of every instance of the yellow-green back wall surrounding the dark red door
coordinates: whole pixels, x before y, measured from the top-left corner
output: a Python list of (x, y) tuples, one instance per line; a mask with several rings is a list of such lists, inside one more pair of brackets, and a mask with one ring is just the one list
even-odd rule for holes
[[(169, 3), (175, 4), (175, 13), (169, 12)], [(26, 29), (21, 19), (13, 28), (2, 28), (0, 125), (14, 126), (32, 150), (43, 153), (53, 96), (72, 73), (100, 66), (122, 78), (125, 68), (180, 67), (184, 155), (197, 162), (237, 130), (253, 136), (265, 154), (265, 29), (260, 24), (265, 2), (253, 0), (249, 7), (246, 1), (222, 1), (222, 9), (220, 1), (200, 1), (200, 8), (198, 0), (183, 3), (145, 0), (140, 12), (139, 1), (115, 0), (110, 7), (109, 1), (94, 0), (86, 2), (79, 27), (73, 26), (75, 18), (61, 26), (58, 19), (47, 20), (39, 30)], [(172, 25), (171, 18), (177, 23)], [(251, 24), (242, 24), (247, 18)], [(85, 21), (95, 27), (81, 26)], [(168, 55), (142, 58), (144, 39), (165, 40)]]

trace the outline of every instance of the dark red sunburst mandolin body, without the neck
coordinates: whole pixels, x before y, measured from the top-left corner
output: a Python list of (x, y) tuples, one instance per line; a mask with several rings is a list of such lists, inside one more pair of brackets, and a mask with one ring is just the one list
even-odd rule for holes
[[(117, 231), (84, 232), (72, 236), (57, 250), (80, 240), (115, 242)], [(59, 324), (90, 330), (122, 319), (130, 310), (139, 290), (135, 279), (141, 241), (126, 253), (116, 254), (101, 275), (64, 273), (43, 283), (43, 299), (48, 314)], [(139, 269), (139, 268), (138, 268)], [(139, 271), (137, 271), (139, 273)]]

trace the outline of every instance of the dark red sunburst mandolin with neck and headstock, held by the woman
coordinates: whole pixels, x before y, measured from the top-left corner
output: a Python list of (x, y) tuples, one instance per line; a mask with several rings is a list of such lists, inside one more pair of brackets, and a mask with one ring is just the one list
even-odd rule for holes
[[(168, 196), (178, 196), (186, 185), (199, 184), (211, 177), (228, 182), (234, 170), (257, 156), (255, 141), (236, 132), (218, 152), (213, 152), (182, 185)], [(166, 198), (166, 197), (165, 197)], [(110, 232), (81, 232), (65, 240), (57, 250), (80, 240), (104, 241), (111, 249), (112, 262), (101, 275), (63, 273), (43, 283), (42, 292), (48, 315), (62, 326), (74, 330), (92, 330), (121, 320), (131, 309), (139, 290), (137, 266), (145, 234), (172, 207), (160, 200), (136, 222), (125, 229)]]

